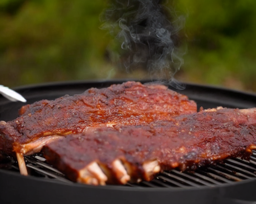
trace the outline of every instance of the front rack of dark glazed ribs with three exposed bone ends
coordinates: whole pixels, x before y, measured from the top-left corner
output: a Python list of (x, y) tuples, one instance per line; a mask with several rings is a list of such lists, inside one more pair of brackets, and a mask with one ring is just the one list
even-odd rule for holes
[(150, 181), (256, 148), (256, 108), (202, 110), (174, 120), (98, 128), (68, 135), (43, 148), (45, 158), (70, 180), (92, 185)]

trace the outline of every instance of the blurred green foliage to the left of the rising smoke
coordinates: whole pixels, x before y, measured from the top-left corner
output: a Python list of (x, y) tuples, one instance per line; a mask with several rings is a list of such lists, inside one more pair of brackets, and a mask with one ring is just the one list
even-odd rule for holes
[(104, 78), (108, 39), (98, 28), (104, 7), (99, 0), (34, 0), (15, 15), (2, 12), (0, 84)]

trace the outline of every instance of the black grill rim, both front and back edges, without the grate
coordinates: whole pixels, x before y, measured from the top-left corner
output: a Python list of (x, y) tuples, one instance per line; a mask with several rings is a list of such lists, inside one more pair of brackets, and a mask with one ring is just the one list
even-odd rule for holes
[[(129, 79), (132, 81), (133, 79)], [(90, 87), (107, 87), (111, 84), (123, 83), (128, 80), (95, 80), (95, 81), (65, 81), (54, 82), (44, 84), (34, 84), (27, 86), (15, 87), (14, 90), (22, 94), (27, 100), (27, 103), (32, 103), (33, 99), (37, 97), (53, 97), (58, 90), (60, 96), (63, 96), (64, 92), (72, 92), (79, 89), (77, 93), (81, 93), (81, 90), (86, 90)], [(152, 80), (143, 80), (142, 83), (152, 82)], [(153, 80), (154, 82), (154, 80)], [(206, 101), (211, 103), (218, 103), (219, 98), (228, 98), (225, 100), (225, 104), (229, 104), (230, 107), (237, 108), (251, 108), (256, 107), (256, 94), (243, 91), (237, 91), (232, 89), (225, 89), (222, 87), (188, 84), (186, 83), (185, 90), (177, 90), (173, 87), (170, 89), (187, 95), (191, 100)], [(203, 95), (202, 95), (203, 93)], [(216, 96), (217, 99), (216, 99)], [(55, 96), (59, 97), (59, 96)], [(47, 99), (47, 98), (46, 98)], [(234, 100), (235, 99), (235, 100)], [(4, 97), (0, 96), (0, 117), (1, 106), (9, 107), (9, 104), (15, 104), (16, 106), (22, 106), (21, 102), (9, 102)], [(211, 105), (210, 105), (211, 106)], [(198, 105), (198, 108), (200, 106)], [(208, 108), (205, 107), (204, 108)], [(256, 179), (243, 180), (232, 183), (222, 183), (217, 186), (202, 186), (202, 187), (186, 187), (186, 188), (166, 188), (166, 187), (129, 187), (129, 186), (87, 186), (79, 183), (64, 183), (58, 180), (45, 179), (41, 177), (25, 177), (17, 172), (0, 169), (0, 201), (1, 203), (17, 203), (20, 200), (15, 199), (13, 196), (12, 202), (10, 202), (11, 193), (10, 189), (18, 194), (18, 198), (22, 199), (22, 203), (84, 203), (81, 202), (85, 195), (89, 197), (87, 203), (144, 203), (145, 197), (147, 203), (170, 203), (170, 199), (176, 202), (182, 203), (218, 203), (222, 198), (232, 198), (240, 200), (256, 200), (256, 194), (253, 189), (256, 187)], [(24, 186), (28, 187), (27, 189)], [(54, 188), (61, 188), (54, 194), (51, 192)], [(74, 189), (78, 192), (74, 192)], [(28, 192), (28, 190), (30, 192)], [(38, 190), (44, 190), (44, 195), (39, 195)], [(59, 197), (60, 191), (63, 196)], [(70, 193), (71, 192), (71, 193)], [(239, 193), (235, 193), (239, 192)], [(28, 194), (29, 193), (29, 194)], [(116, 193), (118, 195), (116, 195)], [(97, 198), (100, 194), (102, 198)], [(120, 196), (120, 194), (122, 196)], [(203, 195), (202, 195), (203, 194)], [(255, 195), (253, 195), (255, 194)], [(28, 195), (24, 197), (24, 195)], [(45, 196), (47, 195), (47, 196)], [(75, 200), (71, 200), (71, 197), (77, 196)], [(92, 197), (96, 196), (96, 197)], [(112, 196), (115, 196), (113, 200)], [(38, 200), (39, 198), (39, 200)], [(49, 198), (52, 202), (49, 202)], [(193, 201), (193, 199), (194, 201)], [(1, 200), (2, 199), (2, 200)], [(37, 200), (37, 202), (35, 202)], [(175, 203), (175, 202), (174, 202)], [(235, 203), (235, 202), (234, 202)]]

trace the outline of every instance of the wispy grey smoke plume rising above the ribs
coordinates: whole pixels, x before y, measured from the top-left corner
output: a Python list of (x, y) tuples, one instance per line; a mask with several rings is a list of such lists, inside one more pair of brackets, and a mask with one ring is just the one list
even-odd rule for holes
[[(126, 68), (146, 68), (154, 78), (174, 83), (183, 59), (179, 31), (184, 17), (176, 15), (162, 0), (111, 0), (101, 16), (103, 29), (116, 36), (117, 52)], [(176, 86), (178, 85), (175, 83)]]

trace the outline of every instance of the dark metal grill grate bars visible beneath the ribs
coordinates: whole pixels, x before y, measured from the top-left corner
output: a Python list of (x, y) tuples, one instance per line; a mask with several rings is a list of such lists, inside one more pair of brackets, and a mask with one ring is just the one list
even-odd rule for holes
[[(50, 166), (42, 155), (25, 156), (28, 172), (31, 176), (44, 177), (65, 183), (72, 183), (65, 175)], [(10, 170), (18, 171), (17, 162), (10, 158)], [(197, 188), (218, 186), (243, 180), (256, 179), (256, 152), (250, 160), (240, 158), (226, 159), (223, 163), (199, 168), (193, 172), (178, 170), (164, 171), (150, 182), (128, 183), (130, 187)]]

